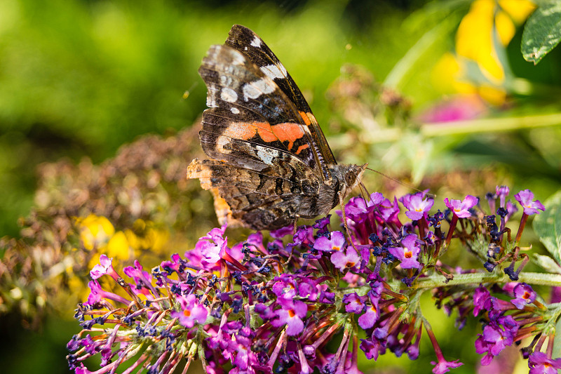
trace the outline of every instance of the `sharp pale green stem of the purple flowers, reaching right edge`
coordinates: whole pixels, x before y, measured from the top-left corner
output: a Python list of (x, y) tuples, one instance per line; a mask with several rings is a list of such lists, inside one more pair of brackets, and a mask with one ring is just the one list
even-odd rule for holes
[[(493, 273), (471, 273), (471, 274), (454, 274), (454, 279), (445, 283), (444, 276), (434, 274), (426, 278), (421, 278), (417, 281), (417, 288), (435, 288), (442, 286), (457, 286), (461, 284), (475, 284), (479, 283), (506, 283), (510, 282), (506, 274), (497, 275)], [(522, 272), (519, 274), (519, 282), (528, 284), (536, 284), (540, 286), (561, 286), (561, 274), (548, 274), (548, 273), (529, 273)]]

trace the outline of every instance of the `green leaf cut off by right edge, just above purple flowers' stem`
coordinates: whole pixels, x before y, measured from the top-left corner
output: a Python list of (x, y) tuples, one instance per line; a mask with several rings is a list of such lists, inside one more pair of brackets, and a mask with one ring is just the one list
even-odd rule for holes
[(548, 252), (561, 264), (561, 191), (557, 191), (544, 203), (546, 211), (534, 219), (534, 232)]

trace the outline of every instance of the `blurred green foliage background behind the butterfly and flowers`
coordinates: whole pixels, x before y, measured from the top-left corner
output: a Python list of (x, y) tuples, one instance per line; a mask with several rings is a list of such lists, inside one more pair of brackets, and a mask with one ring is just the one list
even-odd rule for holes
[[(39, 163), (84, 156), (99, 163), (142, 134), (195, 123), (206, 95), (198, 66), (234, 23), (253, 29), (278, 55), (340, 160), (369, 162), (441, 192), (481, 195), (508, 183), (546, 199), (561, 182), (561, 53), (555, 49), (535, 67), (522, 59), (527, 1), (475, 3), (0, 1), (0, 236), (18, 236), (18, 218), (34, 204)], [(509, 6), (519, 10), (503, 12), (510, 24), (499, 16)], [(478, 27), (464, 23), (459, 34), (468, 14), (480, 17), (472, 26), (490, 22), (491, 61), (461, 51), (472, 37), (468, 42), (486, 51)], [(346, 64), (360, 65), (366, 78), (352, 76)], [(359, 87), (372, 94), (372, 105), (368, 95), (342, 100), (337, 79), (345, 74), (359, 86), (374, 77), (377, 83)], [(461, 121), (426, 125), (442, 119)], [(374, 178), (370, 189), (386, 184)], [(473, 373), (475, 323), (459, 335), (453, 319), (434, 313), (447, 358), (466, 363), (455, 373)], [(65, 344), (78, 331), (71, 313), (48, 316), (38, 332), (20, 328), (18, 316), (0, 316), (0, 331), (7, 338), (2, 372), (67, 373)], [(425, 373), (430, 351), (424, 342), (418, 361), (388, 354), (370, 367)]]

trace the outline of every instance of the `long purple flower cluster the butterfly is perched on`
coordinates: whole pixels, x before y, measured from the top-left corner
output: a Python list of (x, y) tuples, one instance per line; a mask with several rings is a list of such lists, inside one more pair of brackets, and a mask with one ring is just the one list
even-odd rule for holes
[[(138, 262), (124, 268), (131, 281), (102, 256), (90, 273), (90, 297), (76, 311), (83, 330), (68, 344), (69, 365), (76, 373), (92, 373), (83, 361), (100, 354), (95, 373), (119, 366), (126, 367), (123, 373), (185, 373), (196, 358), (207, 373), (217, 374), (360, 373), (359, 350), (374, 360), (388, 351), (417, 359), (424, 328), (437, 357), (433, 373), (445, 373), (461, 363), (444, 359), (416, 301), (433, 288), (439, 302), (452, 300), (449, 311), (488, 311), (476, 349), (490, 361), (504, 346), (535, 334), (530, 321), (543, 306), (525, 283), (513, 288), (512, 302), (482, 287), (471, 288), (473, 301), (448, 292), (445, 282), (454, 274), (444, 269), (453, 268), (440, 255), (454, 238), (469, 247), (483, 235), (489, 248), (499, 248), (494, 259), (514, 263), (520, 257), (503, 246), (503, 221), (499, 227), (489, 223), (494, 218), (478, 218), (478, 202), (474, 196), (445, 199), (450, 211), (431, 214), (434, 201), (424, 192), (393, 200), (379, 193), (356, 197), (344, 206), (351, 239), (332, 229), (329, 216), (296, 232), (271, 232), (268, 240), (254, 232), (233, 246), (226, 227), (215, 228), (184, 256), (175, 254), (150, 273)], [(508, 209), (501, 199), (503, 207)], [(500, 216), (506, 222), (507, 215)], [(440, 283), (430, 286), (435, 276)], [(365, 334), (360, 341), (359, 330)], [(339, 332), (337, 348), (330, 349), (327, 342)], [(530, 357), (534, 367), (549, 362)]]

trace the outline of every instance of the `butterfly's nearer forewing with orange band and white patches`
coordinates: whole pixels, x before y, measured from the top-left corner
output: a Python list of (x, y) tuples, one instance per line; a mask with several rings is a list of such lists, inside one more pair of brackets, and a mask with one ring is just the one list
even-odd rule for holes
[(293, 157), (321, 175), (302, 117), (247, 56), (212, 46), (199, 73), (208, 87), (201, 131), (208, 156), (257, 171)]

